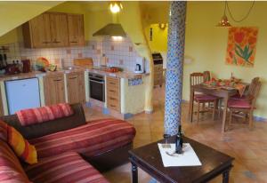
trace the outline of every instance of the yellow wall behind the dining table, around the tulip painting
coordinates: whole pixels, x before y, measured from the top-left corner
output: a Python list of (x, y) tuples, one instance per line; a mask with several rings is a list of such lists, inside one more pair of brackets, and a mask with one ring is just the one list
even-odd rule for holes
[[(247, 13), (251, 2), (229, 2), (229, 4), (233, 15), (236, 19), (240, 19)], [(224, 63), (228, 29), (215, 27), (223, 15), (223, 7), (223, 2), (188, 2), (185, 54), (193, 61), (189, 65), (184, 65), (183, 99), (189, 99), (189, 75), (192, 72), (210, 70), (220, 78), (229, 78), (232, 72), (245, 82), (260, 76), (263, 87), (257, 99), (255, 115), (267, 118), (267, 2), (255, 2), (251, 14), (241, 23), (235, 23), (230, 19), (232, 25), (237, 27), (259, 28), (254, 68), (241, 68)]]

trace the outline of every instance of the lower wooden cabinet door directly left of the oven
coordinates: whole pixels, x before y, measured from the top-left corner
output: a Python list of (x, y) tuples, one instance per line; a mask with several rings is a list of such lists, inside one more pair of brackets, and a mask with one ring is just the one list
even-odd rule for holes
[(84, 72), (69, 73), (67, 75), (68, 99), (70, 104), (85, 102)]

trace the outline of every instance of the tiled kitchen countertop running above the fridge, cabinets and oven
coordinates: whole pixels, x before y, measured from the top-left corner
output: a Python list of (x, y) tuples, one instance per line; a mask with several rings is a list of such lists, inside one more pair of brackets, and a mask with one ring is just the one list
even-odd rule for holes
[(113, 76), (118, 78), (127, 78), (127, 79), (134, 79), (134, 78), (141, 78), (142, 76), (150, 76), (150, 73), (144, 74), (135, 74), (134, 72), (117, 72), (117, 73), (110, 73), (103, 70), (93, 69), (93, 68), (73, 68), (73, 69), (66, 69), (66, 70), (58, 70), (58, 71), (32, 71), (29, 73), (20, 73), (14, 75), (2, 75), (0, 76), (0, 81), (7, 81), (7, 80), (16, 80), (16, 79), (26, 79), (30, 77), (38, 77), (38, 76), (50, 76), (50, 75), (58, 75), (58, 74), (69, 74), (73, 72), (81, 72), (81, 71), (88, 71), (90, 73), (95, 73), (103, 76)]

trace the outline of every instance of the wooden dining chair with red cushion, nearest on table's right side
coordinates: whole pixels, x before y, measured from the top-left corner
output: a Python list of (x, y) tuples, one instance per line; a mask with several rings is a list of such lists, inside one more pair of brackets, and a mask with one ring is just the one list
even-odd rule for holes
[(255, 102), (262, 83), (259, 79), (253, 79), (251, 86), (248, 89), (248, 96), (246, 99), (229, 99), (228, 108), (230, 110), (229, 124), (232, 124), (232, 116), (243, 117), (240, 114), (245, 114), (245, 118), (248, 116), (249, 129), (253, 129), (253, 112), (255, 110)]

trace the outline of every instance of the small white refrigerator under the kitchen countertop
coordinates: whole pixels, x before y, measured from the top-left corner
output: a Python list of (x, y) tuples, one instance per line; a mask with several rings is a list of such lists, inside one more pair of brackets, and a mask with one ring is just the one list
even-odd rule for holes
[(6, 81), (4, 84), (10, 115), (13, 115), (20, 109), (41, 106), (37, 78)]

